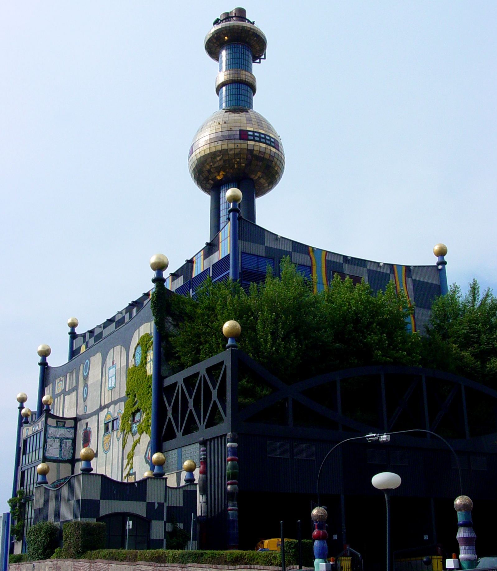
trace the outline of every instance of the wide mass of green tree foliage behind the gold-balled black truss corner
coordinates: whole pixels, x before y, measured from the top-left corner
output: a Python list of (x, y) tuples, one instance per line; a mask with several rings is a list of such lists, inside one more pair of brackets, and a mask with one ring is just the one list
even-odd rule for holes
[(196, 300), (181, 300), (182, 317), (167, 328), (166, 358), (183, 369), (216, 355), (226, 345), (223, 323), (235, 319), (242, 325), (239, 347), (286, 383), (359, 365), (419, 364), (420, 339), (405, 322), (413, 309), (393, 283), (378, 293), (339, 276), (329, 291), (314, 294), (311, 286), (289, 258), (279, 278), (268, 271), (248, 293), (238, 283), (207, 280)]

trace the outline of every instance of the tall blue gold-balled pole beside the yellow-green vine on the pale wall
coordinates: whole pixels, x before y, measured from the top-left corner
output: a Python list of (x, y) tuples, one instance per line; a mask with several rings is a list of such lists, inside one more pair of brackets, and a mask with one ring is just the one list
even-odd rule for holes
[[(163, 284), (166, 281), (164, 270), (169, 266), (169, 260), (164, 254), (154, 254), (150, 258), (150, 267), (155, 274), (152, 283), (157, 289), (157, 284)], [(152, 411), (150, 420), (150, 469), (154, 471), (154, 476), (163, 476), (163, 464), (152, 463), (152, 457), (158, 452), (162, 452), (161, 443), (161, 419), (160, 407), (162, 400), (162, 380), (161, 380), (161, 334), (158, 332), (154, 322), (152, 345)]]

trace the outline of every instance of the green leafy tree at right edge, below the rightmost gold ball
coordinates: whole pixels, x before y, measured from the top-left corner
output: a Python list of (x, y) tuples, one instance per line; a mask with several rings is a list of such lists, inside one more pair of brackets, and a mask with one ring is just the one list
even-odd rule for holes
[(463, 295), (453, 284), (432, 305), (426, 333), (424, 365), (497, 388), (497, 297), (490, 288), (480, 294), (474, 279)]

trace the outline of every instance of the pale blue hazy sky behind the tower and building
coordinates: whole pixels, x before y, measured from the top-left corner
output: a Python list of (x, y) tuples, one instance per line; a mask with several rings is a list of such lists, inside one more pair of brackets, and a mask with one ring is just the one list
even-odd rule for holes
[[(246, 1), (268, 39), (254, 108), (286, 170), (257, 200), (282, 236), (497, 292), (497, 3)], [(191, 180), (218, 108), (198, 2), (0, 0), (0, 509), (17, 402), (35, 408), (37, 347), (67, 359), (69, 317), (95, 327), (209, 240)]]

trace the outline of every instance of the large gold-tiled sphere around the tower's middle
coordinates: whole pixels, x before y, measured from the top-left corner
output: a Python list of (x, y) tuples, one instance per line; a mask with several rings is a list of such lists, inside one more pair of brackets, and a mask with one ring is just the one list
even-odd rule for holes
[[(264, 135), (268, 143), (260, 142)], [(259, 140), (243, 139), (247, 136)], [(195, 134), (188, 167), (195, 183), (207, 194), (214, 186), (252, 179), (255, 196), (263, 196), (283, 176), (283, 145), (271, 123), (258, 112), (222, 109)]]

